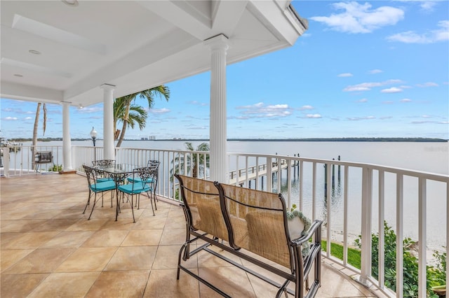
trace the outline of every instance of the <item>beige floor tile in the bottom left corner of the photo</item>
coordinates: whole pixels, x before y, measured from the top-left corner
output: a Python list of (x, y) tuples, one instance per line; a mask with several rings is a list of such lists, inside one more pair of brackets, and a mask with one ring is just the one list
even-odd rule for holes
[(2, 274), (0, 297), (27, 297), (50, 274)]

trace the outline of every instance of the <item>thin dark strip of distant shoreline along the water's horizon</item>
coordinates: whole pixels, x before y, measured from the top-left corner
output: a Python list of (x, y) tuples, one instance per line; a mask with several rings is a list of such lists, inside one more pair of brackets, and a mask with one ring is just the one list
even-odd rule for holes
[[(72, 141), (86, 141), (91, 139), (72, 139)], [(101, 140), (101, 139), (98, 139)], [(10, 141), (24, 142), (32, 141), (32, 139), (11, 139)], [(38, 139), (38, 141), (62, 141), (62, 138), (46, 138)], [(124, 141), (203, 141), (208, 142), (209, 139), (125, 139)], [(261, 141), (261, 142), (432, 142), (446, 143), (449, 140), (434, 138), (305, 138), (305, 139), (227, 139), (227, 141)]]

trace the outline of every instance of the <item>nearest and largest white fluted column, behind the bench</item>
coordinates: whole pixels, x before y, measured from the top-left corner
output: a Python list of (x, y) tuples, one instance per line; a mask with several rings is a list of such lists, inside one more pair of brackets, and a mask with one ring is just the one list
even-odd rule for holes
[(210, 180), (227, 183), (226, 54), (227, 37), (205, 41), (210, 47)]

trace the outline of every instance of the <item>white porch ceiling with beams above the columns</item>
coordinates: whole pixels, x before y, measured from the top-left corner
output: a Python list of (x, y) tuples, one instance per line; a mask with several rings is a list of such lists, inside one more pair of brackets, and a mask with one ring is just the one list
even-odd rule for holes
[[(286, 48), (307, 22), (290, 1), (0, 1), (1, 97), (88, 106), (208, 71), (204, 41), (227, 62)], [(30, 50), (39, 51), (36, 55)]]

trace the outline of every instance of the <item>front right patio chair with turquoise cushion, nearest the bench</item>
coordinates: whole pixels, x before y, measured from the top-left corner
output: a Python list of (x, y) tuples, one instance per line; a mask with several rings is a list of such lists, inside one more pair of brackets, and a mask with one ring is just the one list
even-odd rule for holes
[[(136, 196), (135, 204), (140, 208), (140, 194), (142, 192), (152, 192), (152, 181), (154, 180), (154, 173), (156, 171), (152, 167), (144, 167), (144, 168), (138, 168), (133, 170), (133, 176), (131, 177), (134, 183), (128, 183), (124, 185), (120, 185), (118, 190), (121, 192), (122, 196), (126, 194), (128, 196), (128, 201), (131, 206), (131, 211), (133, 213), (133, 222), (135, 222), (134, 218), (134, 195)], [(122, 197), (122, 201), (123, 201)], [(150, 197), (150, 201), (152, 204), (152, 211), (154, 215), (154, 207), (153, 207), (153, 201)], [(120, 208), (119, 208), (120, 209)]]

